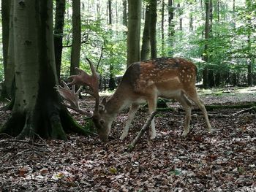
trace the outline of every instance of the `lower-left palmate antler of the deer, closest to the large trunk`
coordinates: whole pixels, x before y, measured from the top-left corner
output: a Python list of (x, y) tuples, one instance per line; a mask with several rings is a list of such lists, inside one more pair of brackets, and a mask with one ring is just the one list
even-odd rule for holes
[(63, 99), (67, 100), (69, 104), (64, 105), (72, 110), (75, 110), (76, 112), (79, 112), (83, 115), (91, 117), (91, 112), (82, 110), (79, 105), (79, 93), (82, 90), (82, 86), (78, 89), (78, 91), (75, 92), (75, 85), (72, 85), (72, 88), (70, 89), (66, 82), (61, 81), (64, 84), (64, 87), (61, 87), (61, 85), (56, 85), (56, 91), (59, 92), (59, 94), (63, 97)]

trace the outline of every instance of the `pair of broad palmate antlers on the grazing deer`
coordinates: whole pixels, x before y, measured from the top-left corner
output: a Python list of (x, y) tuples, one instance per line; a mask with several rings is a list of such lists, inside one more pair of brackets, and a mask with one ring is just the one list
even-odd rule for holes
[[(89, 58), (86, 58), (86, 60), (90, 64), (91, 75), (84, 72), (82, 69), (79, 69), (76, 67), (75, 69), (78, 69), (79, 74), (71, 75), (69, 77), (70, 79), (72, 79), (72, 82), (69, 82), (67, 84), (64, 82), (64, 88), (59, 85), (56, 85), (56, 89), (60, 93), (60, 95), (70, 103), (70, 105), (68, 106), (66, 105), (66, 106), (69, 108), (74, 107), (75, 109), (74, 108), (71, 108), (71, 109), (77, 112), (80, 112), (82, 114), (88, 113), (88, 112), (84, 113), (85, 111), (81, 110), (79, 107), (78, 95), (82, 87), (80, 87), (79, 90), (75, 92), (75, 88), (74, 88), (75, 85), (89, 86), (89, 89), (87, 89), (85, 92), (89, 93), (91, 96), (94, 96), (96, 100), (95, 106), (94, 106), (94, 113), (97, 113), (99, 110), (99, 77)], [(72, 85), (72, 90), (70, 90), (67, 85)], [(89, 115), (91, 116), (91, 113), (89, 113)]]

